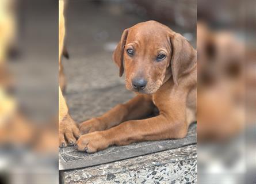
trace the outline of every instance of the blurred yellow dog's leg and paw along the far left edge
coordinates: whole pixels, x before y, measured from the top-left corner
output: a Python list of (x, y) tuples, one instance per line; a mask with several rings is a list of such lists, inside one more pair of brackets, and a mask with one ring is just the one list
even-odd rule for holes
[(7, 93), (12, 77), (7, 68), (7, 56), (16, 37), (14, 1), (0, 1), (0, 143), (27, 144), (33, 128), (18, 113), (16, 99)]

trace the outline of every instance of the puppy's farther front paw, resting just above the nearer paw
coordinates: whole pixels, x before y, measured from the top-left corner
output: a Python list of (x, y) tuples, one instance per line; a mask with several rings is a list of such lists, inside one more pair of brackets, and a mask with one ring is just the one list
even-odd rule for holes
[(82, 134), (91, 133), (95, 131), (104, 131), (105, 125), (98, 118), (92, 118), (91, 120), (82, 122), (79, 125), (79, 130)]

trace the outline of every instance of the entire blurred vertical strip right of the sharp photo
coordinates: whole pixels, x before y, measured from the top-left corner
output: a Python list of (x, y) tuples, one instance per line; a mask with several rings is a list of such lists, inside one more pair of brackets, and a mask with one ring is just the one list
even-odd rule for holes
[(255, 1), (197, 1), (198, 183), (255, 183)]

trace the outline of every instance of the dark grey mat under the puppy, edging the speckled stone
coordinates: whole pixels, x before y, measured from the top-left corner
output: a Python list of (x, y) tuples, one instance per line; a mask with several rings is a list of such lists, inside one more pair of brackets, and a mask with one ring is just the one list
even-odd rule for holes
[(59, 148), (59, 170), (83, 168), (152, 154), (159, 151), (171, 150), (196, 143), (196, 124), (189, 127), (188, 135), (184, 139), (162, 141), (144, 141), (124, 146), (112, 146), (94, 154), (79, 152), (75, 147)]

